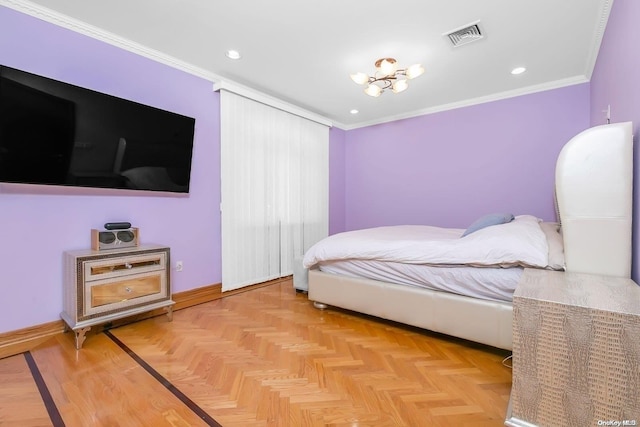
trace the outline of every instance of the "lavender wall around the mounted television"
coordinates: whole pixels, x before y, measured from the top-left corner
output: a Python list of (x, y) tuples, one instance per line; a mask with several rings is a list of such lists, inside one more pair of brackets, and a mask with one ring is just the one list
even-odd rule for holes
[(219, 99), (210, 82), (0, 7), (0, 63), (196, 118), (189, 197), (0, 193), (0, 333), (59, 319), (62, 253), (90, 229), (130, 221), (171, 247), (180, 292), (219, 283)]

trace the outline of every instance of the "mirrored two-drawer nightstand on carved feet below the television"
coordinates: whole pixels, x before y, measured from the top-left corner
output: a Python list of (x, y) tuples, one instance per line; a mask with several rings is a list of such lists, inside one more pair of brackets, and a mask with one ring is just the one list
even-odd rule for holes
[(82, 348), (91, 326), (164, 308), (172, 319), (170, 249), (141, 245), (64, 253), (64, 311), (60, 317)]

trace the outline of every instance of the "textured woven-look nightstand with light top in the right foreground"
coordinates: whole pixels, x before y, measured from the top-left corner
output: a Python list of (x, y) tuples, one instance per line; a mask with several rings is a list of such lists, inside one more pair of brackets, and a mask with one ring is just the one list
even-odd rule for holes
[(505, 425), (640, 425), (640, 287), (526, 269), (513, 296)]

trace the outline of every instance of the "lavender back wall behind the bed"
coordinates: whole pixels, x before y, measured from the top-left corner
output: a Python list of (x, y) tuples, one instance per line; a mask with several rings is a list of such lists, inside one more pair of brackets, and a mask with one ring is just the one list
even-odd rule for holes
[(589, 127), (589, 85), (352, 130), (346, 229), (465, 228), (492, 212), (555, 220), (555, 161)]

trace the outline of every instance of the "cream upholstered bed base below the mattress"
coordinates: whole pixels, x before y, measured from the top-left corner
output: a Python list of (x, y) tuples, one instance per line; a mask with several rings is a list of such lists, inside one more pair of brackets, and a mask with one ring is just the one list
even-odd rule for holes
[(512, 349), (512, 304), (309, 270), (309, 300)]

